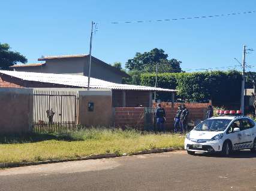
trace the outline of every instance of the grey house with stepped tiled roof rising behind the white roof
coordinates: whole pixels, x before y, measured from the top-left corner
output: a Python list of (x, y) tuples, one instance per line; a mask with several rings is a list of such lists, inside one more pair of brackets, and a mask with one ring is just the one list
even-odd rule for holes
[[(44, 61), (44, 63), (16, 64), (11, 66), (11, 68), (18, 72), (57, 73), (88, 76), (89, 55), (86, 54), (47, 56), (38, 58), (38, 61)], [(127, 78), (129, 75), (92, 56), (91, 77), (121, 84), (122, 78)]]

